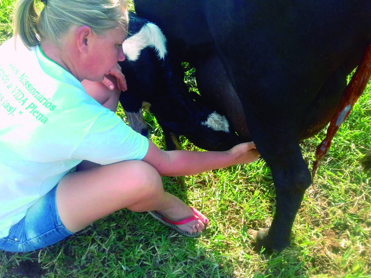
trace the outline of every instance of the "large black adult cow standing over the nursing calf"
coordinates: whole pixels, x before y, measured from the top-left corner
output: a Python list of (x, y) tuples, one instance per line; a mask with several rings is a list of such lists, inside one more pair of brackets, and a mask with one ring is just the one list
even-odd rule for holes
[(299, 141), (334, 116), (346, 77), (371, 42), (371, 1), (134, 4), (138, 16), (161, 28), (177, 58), (196, 67), (202, 97), (255, 142), (272, 171), (277, 203), (269, 230), (255, 235), (266, 249), (285, 248), (311, 184)]

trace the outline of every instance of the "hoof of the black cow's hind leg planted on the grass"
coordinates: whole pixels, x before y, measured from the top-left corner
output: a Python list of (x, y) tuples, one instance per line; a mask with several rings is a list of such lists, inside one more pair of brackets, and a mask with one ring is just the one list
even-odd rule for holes
[(264, 248), (264, 252), (279, 253), (287, 246), (290, 242), (277, 244), (273, 242), (269, 236), (269, 228), (259, 228), (258, 230), (249, 229), (247, 233), (252, 236), (256, 241), (255, 251), (260, 252)]

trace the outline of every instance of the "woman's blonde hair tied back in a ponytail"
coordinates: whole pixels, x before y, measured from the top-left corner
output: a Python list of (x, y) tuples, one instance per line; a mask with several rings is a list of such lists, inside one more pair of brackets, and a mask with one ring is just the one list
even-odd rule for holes
[(37, 13), (35, 0), (18, 0), (13, 15), (14, 36), (32, 47), (42, 40), (56, 46), (72, 26), (89, 26), (96, 34), (128, 24), (125, 0), (47, 0)]

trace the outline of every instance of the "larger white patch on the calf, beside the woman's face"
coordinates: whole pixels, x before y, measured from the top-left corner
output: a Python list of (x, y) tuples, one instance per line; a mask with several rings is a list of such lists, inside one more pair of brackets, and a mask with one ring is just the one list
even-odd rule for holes
[(128, 60), (135, 61), (139, 58), (141, 50), (147, 46), (155, 48), (158, 58), (165, 58), (166, 38), (154, 23), (144, 24), (138, 33), (128, 37), (122, 44), (122, 50)]

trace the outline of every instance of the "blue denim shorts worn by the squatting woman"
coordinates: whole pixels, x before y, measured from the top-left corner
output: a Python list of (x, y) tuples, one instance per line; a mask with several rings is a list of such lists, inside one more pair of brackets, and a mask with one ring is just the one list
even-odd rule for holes
[(56, 189), (57, 186), (29, 207), (26, 216), (10, 228), (9, 235), (0, 239), (0, 250), (33, 251), (72, 235), (59, 218)]

